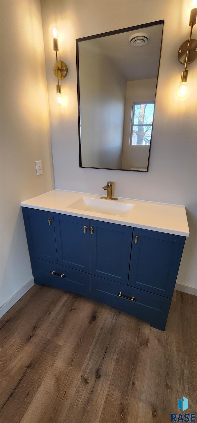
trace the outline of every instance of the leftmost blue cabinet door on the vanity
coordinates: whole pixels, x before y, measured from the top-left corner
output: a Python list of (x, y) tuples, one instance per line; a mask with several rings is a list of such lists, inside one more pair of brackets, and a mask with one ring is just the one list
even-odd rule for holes
[(57, 263), (53, 213), (22, 207), (30, 255)]

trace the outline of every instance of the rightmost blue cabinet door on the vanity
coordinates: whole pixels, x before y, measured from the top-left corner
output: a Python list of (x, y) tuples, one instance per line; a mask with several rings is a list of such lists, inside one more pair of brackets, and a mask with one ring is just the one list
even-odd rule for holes
[(184, 243), (184, 236), (134, 228), (129, 285), (171, 298)]

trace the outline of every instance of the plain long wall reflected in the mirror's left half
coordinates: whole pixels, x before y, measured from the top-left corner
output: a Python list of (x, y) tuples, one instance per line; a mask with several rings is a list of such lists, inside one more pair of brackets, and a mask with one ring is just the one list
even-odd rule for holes
[(79, 42), (82, 166), (121, 169), (126, 79), (94, 41)]

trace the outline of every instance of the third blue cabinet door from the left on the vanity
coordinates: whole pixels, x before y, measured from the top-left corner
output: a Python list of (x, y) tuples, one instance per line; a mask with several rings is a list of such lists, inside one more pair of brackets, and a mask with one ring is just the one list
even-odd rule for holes
[(127, 285), (133, 228), (97, 220), (90, 220), (91, 227), (91, 275)]

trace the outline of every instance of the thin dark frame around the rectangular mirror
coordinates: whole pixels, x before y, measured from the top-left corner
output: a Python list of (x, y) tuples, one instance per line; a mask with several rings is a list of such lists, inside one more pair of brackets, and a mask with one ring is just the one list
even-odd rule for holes
[[(129, 32), (129, 31), (134, 31), (134, 30), (139, 30), (141, 28), (148, 28), (151, 27), (153, 25), (163, 25), (162, 28), (162, 36), (161, 36), (161, 48), (162, 48), (162, 41), (163, 41), (163, 34), (164, 34), (164, 19), (160, 20), (160, 21), (155, 21), (155, 22), (148, 22), (146, 24), (142, 24), (142, 25), (135, 25), (132, 27), (128, 27), (128, 28), (122, 28), (122, 29), (118, 29), (115, 31), (109, 31), (109, 32), (104, 32), (101, 34), (95, 34), (92, 36), (88, 36), (88, 37), (83, 37), (83, 38), (77, 38), (76, 39), (76, 59), (77, 59), (77, 103), (78, 103), (78, 131), (79, 131), (79, 168), (86, 168), (86, 169), (106, 169), (106, 170), (124, 170), (127, 172), (148, 172), (148, 168), (149, 168), (149, 159), (150, 159), (150, 149), (151, 149), (151, 141), (152, 141), (152, 133), (151, 133), (151, 138), (150, 138), (150, 148), (149, 148), (149, 154), (148, 154), (148, 165), (147, 165), (147, 170), (130, 170), (130, 169), (112, 169), (112, 168), (93, 168), (90, 166), (82, 166), (82, 154), (81, 154), (81, 131), (80, 131), (80, 82), (79, 82), (79, 42), (80, 41), (86, 41), (86, 40), (92, 40), (93, 38), (101, 38), (101, 37), (107, 37), (109, 35), (114, 35), (114, 34), (120, 34), (123, 32)], [(157, 93), (157, 85), (158, 85), (158, 79), (159, 79), (159, 68), (160, 68), (160, 61), (161, 61), (161, 48), (160, 48), (160, 56), (159, 56), (159, 66), (158, 66), (158, 74), (157, 74), (157, 83), (156, 83), (156, 92), (155, 92), (155, 101), (156, 101), (156, 93)], [(153, 113), (153, 123), (154, 123), (154, 115), (155, 115), (155, 107), (154, 107), (154, 113)]]

